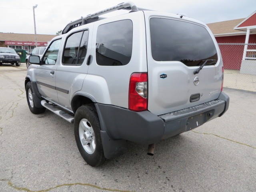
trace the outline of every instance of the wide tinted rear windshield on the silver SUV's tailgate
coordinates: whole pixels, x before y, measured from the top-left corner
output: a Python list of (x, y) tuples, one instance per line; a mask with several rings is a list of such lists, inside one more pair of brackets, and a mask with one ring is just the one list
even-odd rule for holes
[[(150, 19), (152, 57), (156, 61), (180, 61), (200, 66), (205, 60), (218, 60), (214, 42), (206, 28), (177, 20)], [(207, 65), (216, 62), (209, 61)]]

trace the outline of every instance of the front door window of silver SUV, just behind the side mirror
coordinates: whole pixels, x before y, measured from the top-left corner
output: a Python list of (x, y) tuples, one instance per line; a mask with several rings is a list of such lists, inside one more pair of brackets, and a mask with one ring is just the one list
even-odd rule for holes
[(50, 44), (44, 57), (42, 58), (42, 64), (54, 65), (56, 63), (60, 49), (60, 42), (61, 39), (58, 39)]

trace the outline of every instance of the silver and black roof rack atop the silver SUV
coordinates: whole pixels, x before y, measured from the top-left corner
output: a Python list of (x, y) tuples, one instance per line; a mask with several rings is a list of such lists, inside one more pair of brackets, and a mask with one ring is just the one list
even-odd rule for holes
[(84, 25), (84, 24), (87, 24), (87, 23), (91, 23), (91, 22), (95, 22), (95, 21), (100, 20), (100, 19), (104, 19), (104, 18), (100, 18), (99, 17), (100, 15), (107, 14), (107, 13), (110, 13), (110, 12), (113, 12), (113, 11), (116, 11), (116, 10), (121, 10), (121, 9), (131, 10), (130, 12), (134, 12), (134, 11), (139, 10), (133, 2), (120, 3), (116, 6), (101, 10), (101, 11), (93, 13), (93, 14), (89, 14), (89, 15), (87, 15), (85, 17), (81, 17), (80, 19), (77, 19), (75, 21), (71, 21), (62, 30), (62, 34), (65, 34), (65, 33), (69, 32), (70, 30), (72, 30), (73, 28), (76, 28), (78, 26), (81, 26), (81, 25)]

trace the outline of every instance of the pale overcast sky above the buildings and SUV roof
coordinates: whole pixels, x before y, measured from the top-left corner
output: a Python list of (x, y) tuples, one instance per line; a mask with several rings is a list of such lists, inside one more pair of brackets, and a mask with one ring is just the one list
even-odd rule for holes
[[(56, 34), (81, 16), (122, 3), (122, 0), (0, 0), (0, 32)], [(133, 0), (138, 7), (185, 13), (206, 24), (246, 18), (256, 10), (256, 0)]]

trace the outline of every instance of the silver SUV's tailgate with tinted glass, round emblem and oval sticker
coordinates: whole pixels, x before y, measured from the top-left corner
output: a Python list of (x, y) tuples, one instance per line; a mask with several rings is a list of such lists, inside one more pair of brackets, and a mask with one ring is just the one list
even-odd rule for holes
[(207, 28), (176, 15), (145, 17), (148, 110), (166, 114), (218, 98), (222, 61)]

